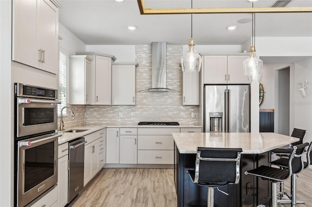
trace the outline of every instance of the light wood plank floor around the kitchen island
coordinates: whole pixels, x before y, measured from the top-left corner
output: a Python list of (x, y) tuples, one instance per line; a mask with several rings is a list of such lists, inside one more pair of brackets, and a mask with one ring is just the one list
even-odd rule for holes
[[(104, 168), (69, 207), (176, 207), (173, 173), (173, 169)], [(298, 175), (297, 198), (305, 204), (296, 206), (312, 207), (312, 169)], [(285, 190), (290, 192), (290, 180)]]

